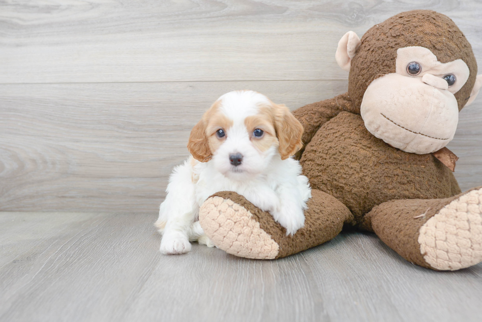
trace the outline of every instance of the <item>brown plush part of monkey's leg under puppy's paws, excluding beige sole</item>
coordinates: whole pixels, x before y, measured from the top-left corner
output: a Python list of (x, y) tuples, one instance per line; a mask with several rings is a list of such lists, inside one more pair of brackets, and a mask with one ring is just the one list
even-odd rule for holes
[(304, 227), (293, 236), (286, 236), (286, 230), (274, 221), (269, 212), (262, 211), (235, 192), (222, 191), (211, 197), (230, 199), (249, 210), (261, 229), (279, 245), (276, 258), (281, 258), (329, 241), (341, 232), (344, 223), (353, 222), (347, 207), (332, 196), (318, 190), (312, 190), (311, 195), (304, 213)]

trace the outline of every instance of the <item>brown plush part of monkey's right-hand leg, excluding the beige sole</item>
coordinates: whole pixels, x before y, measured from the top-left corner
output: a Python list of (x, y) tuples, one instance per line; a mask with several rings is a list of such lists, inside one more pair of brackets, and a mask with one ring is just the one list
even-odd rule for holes
[[(471, 190), (475, 189), (480, 187)], [(420, 228), (440, 209), (467, 192), (445, 199), (394, 200), (374, 207), (366, 217), (373, 231), (400, 256), (411, 263), (434, 269), (420, 252)]]

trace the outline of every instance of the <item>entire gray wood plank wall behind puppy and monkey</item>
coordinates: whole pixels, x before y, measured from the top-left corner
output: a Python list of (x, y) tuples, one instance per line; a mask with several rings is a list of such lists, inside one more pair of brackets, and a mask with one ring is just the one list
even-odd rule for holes
[[(0, 210), (156, 211), (218, 96), (295, 109), (342, 93), (339, 38), (401, 11), (447, 14), (482, 65), (480, 1), (409, 2), (2, 2)], [(482, 184), (481, 125), (479, 97), (449, 145), (462, 189)]]

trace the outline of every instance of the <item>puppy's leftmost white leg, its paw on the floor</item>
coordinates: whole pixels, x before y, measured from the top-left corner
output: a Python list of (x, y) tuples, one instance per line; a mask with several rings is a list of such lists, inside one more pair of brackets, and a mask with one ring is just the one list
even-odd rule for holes
[(166, 199), (154, 224), (162, 234), (160, 251), (163, 254), (182, 254), (191, 250), (188, 234), (197, 205), (188, 161), (174, 168), (167, 185)]

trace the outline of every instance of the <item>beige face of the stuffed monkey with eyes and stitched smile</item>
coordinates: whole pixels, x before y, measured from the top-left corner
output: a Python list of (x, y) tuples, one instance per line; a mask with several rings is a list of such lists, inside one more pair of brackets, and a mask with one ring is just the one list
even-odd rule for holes
[(398, 48), (394, 70), (377, 76), (363, 93), (366, 129), (405, 152), (440, 150), (455, 134), (462, 107), (455, 94), (469, 75), (462, 59), (441, 62), (425, 47)]

